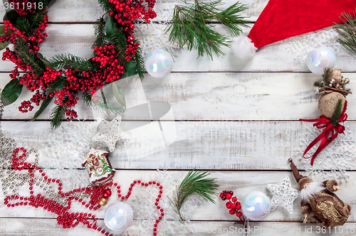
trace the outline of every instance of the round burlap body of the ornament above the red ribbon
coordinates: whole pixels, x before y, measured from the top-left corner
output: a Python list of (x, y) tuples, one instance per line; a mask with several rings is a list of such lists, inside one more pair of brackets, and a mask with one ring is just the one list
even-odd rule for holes
[(346, 101), (344, 95), (342, 95), (340, 92), (325, 92), (320, 97), (318, 104), (320, 115), (331, 119), (339, 100), (342, 100), (342, 107), (344, 107)]

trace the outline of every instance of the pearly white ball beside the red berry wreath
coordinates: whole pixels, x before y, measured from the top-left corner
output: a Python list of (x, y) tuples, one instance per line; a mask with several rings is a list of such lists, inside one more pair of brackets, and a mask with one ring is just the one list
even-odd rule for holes
[(152, 50), (145, 58), (145, 69), (153, 77), (164, 77), (173, 69), (173, 58), (167, 50)]

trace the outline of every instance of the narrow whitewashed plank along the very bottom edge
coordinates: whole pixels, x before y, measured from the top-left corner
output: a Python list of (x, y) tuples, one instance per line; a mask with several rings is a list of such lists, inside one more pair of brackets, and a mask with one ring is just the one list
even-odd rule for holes
[[(4, 236), (47, 236), (56, 232), (57, 236), (97, 236), (99, 232), (89, 230), (82, 225), (78, 225), (71, 229), (63, 230), (56, 224), (54, 219), (0, 219), (0, 232)], [(149, 232), (140, 232), (135, 228), (134, 221), (132, 226), (119, 235), (151, 235)], [(103, 220), (98, 221), (98, 225), (104, 225)], [(214, 236), (227, 236), (227, 235), (243, 235), (243, 227), (241, 225), (233, 225), (233, 222), (201, 222), (194, 221), (187, 223), (187, 230), (176, 230), (174, 235), (214, 235)], [(295, 236), (316, 236), (316, 235), (354, 235), (356, 223), (347, 222), (345, 225), (335, 227), (330, 230), (325, 230), (323, 233), (320, 227), (313, 225), (304, 225), (301, 222), (250, 222), (249, 233), (250, 235), (295, 235)], [(159, 229), (159, 227), (158, 227)], [(113, 235), (115, 232), (111, 232)], [(160, 234), (157, 234), (160, 235)]]

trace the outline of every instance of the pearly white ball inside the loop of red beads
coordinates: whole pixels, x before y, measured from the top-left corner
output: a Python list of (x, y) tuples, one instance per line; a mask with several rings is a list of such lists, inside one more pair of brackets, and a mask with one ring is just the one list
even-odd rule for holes
[(112, 203), (104, 213), (106, 227), (114, 231), (124, 231), (132, 224), (133, 211), (126, 203)]

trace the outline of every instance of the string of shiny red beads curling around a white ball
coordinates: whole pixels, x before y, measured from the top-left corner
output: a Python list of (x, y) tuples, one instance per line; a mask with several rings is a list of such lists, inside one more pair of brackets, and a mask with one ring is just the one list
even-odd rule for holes
[[(19, 152), (22, 152), (20, 156), (18, 156)], [(155, 206), (157, 210), (159, 210), (160, 216), (157, 218), (154, 228), (153, 228), (153, 235), (157, 235), (157, 226), (160, 220), (162, 220), (164, 216), (164, 209), (159, 206), (159, 199), (162, 198), (162, 189), (163, 186), (160, 185), (160, 183), (157, 183), (155, 181), (150, 181), (148, 183), (143, 183), (140, 180), (133, 181), (133, 183), (130, 184), (130, 188), (127, 191), (127, 194), (121, 195), (120, 191), (120, 186), (117, 183), (106, 183), (103, 186), (88, 186), (86, 188), (78, 188), (78, 189), (73, 189), (73, 191), (69, 192), (63, 192), (62, 191), (62, 183), (58, 179), (56, 180), (55, 178), (48, 178), (46, 176), (46, 173), (36, 166), (36, 164), (31, 164), (26, 162), (26, 157), (27, 157), (27, 150), (26, 149), (15, 149), (12, 155), (12, 163), (11, 167), (14, 168), (14, 171), (22, 171), (26, 169), (28, 171), (28, 174), (30, 176), (29, 179), (29, 191), (31, 196), (26, 198), (26, 197), (19, 197), (19, 195), (11, 195), (11, 196), (6, 196), (4, 199), (4, 204), (7, 205), (8, 208), (14, 208), (19, 205), (31, 205), (33, 208), (43, 208), (44, 210), (47, 210), (48, 212), (54, 213), (58, 215), (57, 217), (57, 222), (58, 225), (62, 225), (63, 229), (70, 228), (70, 227), (75, 227), (79, 223), (82, 223), (83, 225), (87, 225), (88, 228), (97, 230), (98, 232), (101, 232), (105, 236), (112, 236), (109, 235), (109, 232), (106, 232), (105, 230), (102, 230), (100, 227), (96, 226), (96, 222), (98, 219), (95, 218), (95, 215), (92, 215), (91, 213), (69, 213), (68, 210), (70, 210), (70, 205), (72, 200), (76, 200), (82, 205), (85, 206), (85, 208), (89, 208), (89, 210), (98, 210), (100, 208), (99, 205), (99, 199), (104, 195), (105, 198), (110, 197), (112, 194), (110, 191), (111, 186), (115, 186), (117, 188), (117, 196), (121, 198), (122, 200), (125, 200), (130, 197), (132, 188), (136, 184), (140, 184), (142, 187), (147, 187), (147, 186), (157, 186), (159, 188), (159, 195), (157, 195)], [(66, 199), (66, 204), (61, 205), (60, 203), (57, 203), (55, 200), (50, 200), (44, 197), (41, 194), (37, 194), (36, 196), (33, 195), (33, 182), (34, 182), (34, 172), (38, 171), (41, 173), (41, 177), (45, 180), (48, 181), (48, 183), (56, 183), (58, 185), (58, 195), (60, 195), (62, 198), (67, 198)], [(76, 196), (78, 193), (86, 193), (90, 195), (90, 201), (86, 203), (83, 198), (79, 198)], [(10, 200), (20, 200), (19, 202), (16, 203), (9, 203)], [(92, 220), (91, 222), (89, 220)]]

